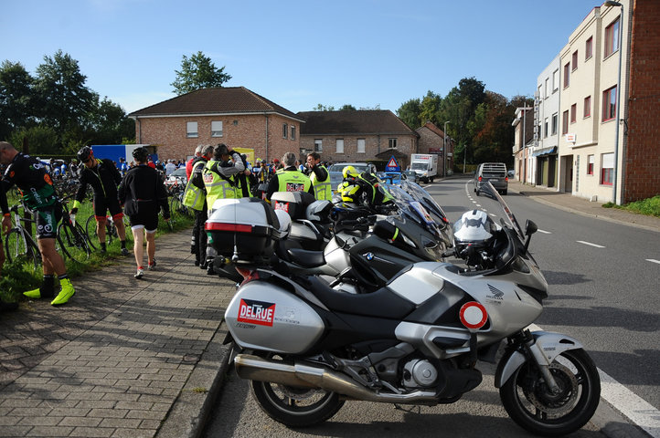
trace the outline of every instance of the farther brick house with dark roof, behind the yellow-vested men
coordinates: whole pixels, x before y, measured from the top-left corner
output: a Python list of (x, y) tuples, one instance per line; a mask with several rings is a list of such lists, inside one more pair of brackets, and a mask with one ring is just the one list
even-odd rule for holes
[(304, 111), (300, 155), (311, 151), (326, 162), (375, 162), (394, 155), (405, 169), (418, 150), (419, 134), (390, 110)]

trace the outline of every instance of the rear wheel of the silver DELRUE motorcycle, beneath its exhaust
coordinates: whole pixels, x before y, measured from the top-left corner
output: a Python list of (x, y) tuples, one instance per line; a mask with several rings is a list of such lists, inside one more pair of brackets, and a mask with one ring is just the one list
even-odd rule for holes
[(330, 391), (270, 381), (250, 381), (250, 388), (261, 410), (289, 427), (308, 427), (325, 422), (344, 406), (339, 395)]

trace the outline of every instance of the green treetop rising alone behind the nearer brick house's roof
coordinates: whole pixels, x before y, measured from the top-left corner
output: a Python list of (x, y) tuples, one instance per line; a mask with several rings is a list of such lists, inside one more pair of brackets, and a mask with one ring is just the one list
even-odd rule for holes
[(201, 51), (186, 57), (181, 61), (181, 70), (175, 70), (176, 79), (172, 82), (174, 92), (182, 95), (197, 89), (212, 89), (222, 87), (231, 76), (224, 72), (225, 67), (216, 68), (210, 57)]

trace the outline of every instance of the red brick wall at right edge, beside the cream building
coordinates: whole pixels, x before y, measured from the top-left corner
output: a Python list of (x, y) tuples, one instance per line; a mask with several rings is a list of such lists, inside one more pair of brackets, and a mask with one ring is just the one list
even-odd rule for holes
[[(635, 0), (623, 203), (660, 194), (660, 2)], [(622, 127), (623, 128), (623, 127)]]

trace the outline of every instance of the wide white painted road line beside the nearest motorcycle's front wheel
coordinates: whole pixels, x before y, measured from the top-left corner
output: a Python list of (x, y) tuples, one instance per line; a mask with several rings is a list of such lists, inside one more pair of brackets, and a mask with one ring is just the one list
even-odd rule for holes
[[(536, 324), (527, 328), (532, 331), (543, 331)], [(644, 429), (654, 438), (660, 438), (660, 411), (648, 401), (630, 391), (618, 381), (615, 381), (605, 371), (598, 369), (601, 376), (601, 397), (616, 410), (623, 413), (631, 422)]]

